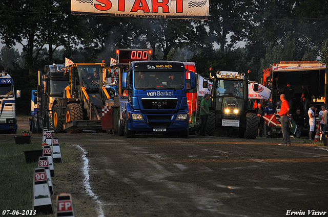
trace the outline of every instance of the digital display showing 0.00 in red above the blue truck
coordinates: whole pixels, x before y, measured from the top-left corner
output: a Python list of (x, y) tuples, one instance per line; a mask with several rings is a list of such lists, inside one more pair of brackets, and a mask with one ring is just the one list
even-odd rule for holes
[(116, 50), (117, 63), (129, 64), (132, 61), (150, 60), (151, 50), (121, 49)]

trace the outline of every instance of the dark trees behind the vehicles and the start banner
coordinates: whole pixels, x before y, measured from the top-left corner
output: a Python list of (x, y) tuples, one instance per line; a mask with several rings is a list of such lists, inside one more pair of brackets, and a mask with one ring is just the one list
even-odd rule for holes
[[(117, 48), (148, 48), (154, 60), (193, 61), (204, 77), (250, 70), (253, 81), (274, 62), (328, 62), (323, 0), (211, 0), (208, 20), (71, 15), (70, 0), (3, 0), (0, 12), (0, 39), (6, 44), (0, 65), (31, 81), (20, 85), (26, 94), (35, 89), (44, 65), (62, 64), (65, 57), (109, 63)], [(23, 46), (21, 54), (16, 44)]]

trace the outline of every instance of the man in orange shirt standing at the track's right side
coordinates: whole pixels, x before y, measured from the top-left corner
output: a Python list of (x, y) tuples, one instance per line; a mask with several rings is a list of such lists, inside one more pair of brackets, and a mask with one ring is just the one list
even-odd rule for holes
[(280, 143), (279, 146), (290, 146), (291, 137), (289, 135), (289, 130), (288, 130), (290, 105), (289, 102), (286, 101), (285, 94), (280, 95), (280, 100), (282, 102), (279, 112), (281, 131), (282, 131), (282, 143)]

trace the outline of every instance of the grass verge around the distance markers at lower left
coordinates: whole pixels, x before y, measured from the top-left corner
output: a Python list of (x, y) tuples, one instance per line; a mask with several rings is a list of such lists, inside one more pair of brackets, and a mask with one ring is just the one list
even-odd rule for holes
[[(0, 211), (3, 210), (31, 210), (33, 200), (33, 173), (38, 167), (38, 162), (26, 163), (23, 151), (40, 149), (40, 142), (30, 144), (15, 144), (15, 142), (2, 142), (0, 144)], [(68, 145), (60, 144), (61, 156), (64, 162), (56, 163), (55, 175), (69, 174), (70, 168), (76, 168), (74, 158), (75, 149)], [(54, 184), (54, 179), (52, 182)], [(55, 190), (55, 189), (54, 189)], [(55, 205), (56, 196), (52, 196)], [(55, 206), (54, 206), (55, 212)], [(53, 216), (53, 215), (42, 215)]]

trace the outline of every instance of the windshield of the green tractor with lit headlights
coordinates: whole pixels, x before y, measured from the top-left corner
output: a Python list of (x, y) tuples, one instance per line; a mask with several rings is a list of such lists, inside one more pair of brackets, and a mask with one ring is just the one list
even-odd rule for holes
[(243, 83), (238, 80), (218, 80), (216, 95), (243, 98)]

